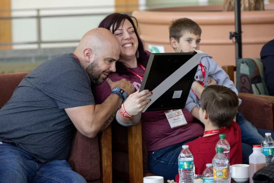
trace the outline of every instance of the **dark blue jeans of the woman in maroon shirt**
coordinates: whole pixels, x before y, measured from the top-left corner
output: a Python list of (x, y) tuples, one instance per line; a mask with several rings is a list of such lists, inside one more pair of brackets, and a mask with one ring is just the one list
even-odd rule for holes
[(178, 173), (178, 156), (182, 145), (198, 137), (148, 153), (148, 169), (151, 173), (163, 176), (164, 180), (175, 180)]

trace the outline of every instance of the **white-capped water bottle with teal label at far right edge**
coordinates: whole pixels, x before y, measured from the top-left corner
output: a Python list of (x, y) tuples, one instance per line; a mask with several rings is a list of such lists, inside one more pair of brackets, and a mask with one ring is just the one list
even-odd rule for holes
[(271, 133), (265, 133), (264, 142), (261, 145), (262, 153), (265, 155), (266, 166), (274, 162), (274, 141)]

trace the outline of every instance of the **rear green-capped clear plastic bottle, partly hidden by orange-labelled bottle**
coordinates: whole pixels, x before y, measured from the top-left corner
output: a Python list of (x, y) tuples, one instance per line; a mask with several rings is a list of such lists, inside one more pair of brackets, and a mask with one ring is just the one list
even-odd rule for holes
[(226, 134), (219, 135), (219, 141), (216, 143), (216, 148), (223, 148), (223, 154), (227, 156), (228, 159), (228, 177), (227, 180), (231, 181), (231, 173), (230, 173), (230, 145), (226, 140)]

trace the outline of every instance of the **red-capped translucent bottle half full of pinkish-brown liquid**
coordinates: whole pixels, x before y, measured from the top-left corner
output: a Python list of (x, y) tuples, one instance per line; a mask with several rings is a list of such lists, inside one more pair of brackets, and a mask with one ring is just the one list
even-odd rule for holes
[(249, 156), (249, 183), (253, 183), (255, 172), (265, 167), (265, 155), (261, 151), (261, 145), (253, 145), (253, 152)]

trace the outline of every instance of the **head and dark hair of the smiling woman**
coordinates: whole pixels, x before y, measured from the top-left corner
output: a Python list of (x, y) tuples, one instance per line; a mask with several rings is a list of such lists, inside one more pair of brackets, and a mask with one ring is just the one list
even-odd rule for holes
[(130, 74), (126, 66), (134, 68), (141, 63), (146, 67), (146, 60), (149, 58), (132, 19), (137, 22), (133, 16), (113, 13), (98, 26), (110, 30), (120, 42), (121, 54), (119, 62), (116, 63), (116, 73), (119, 74)]

